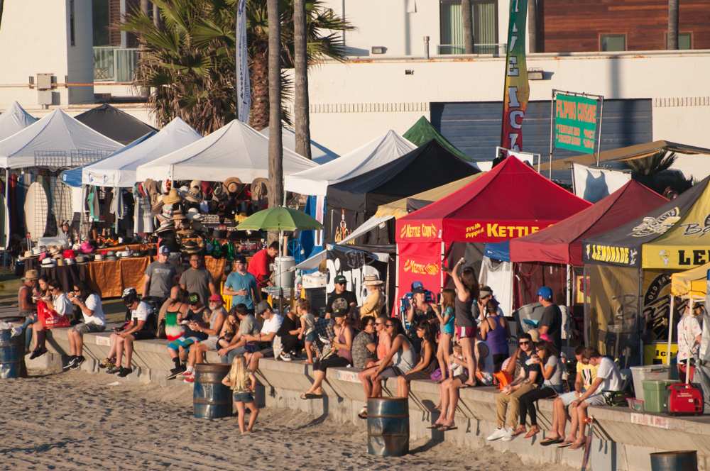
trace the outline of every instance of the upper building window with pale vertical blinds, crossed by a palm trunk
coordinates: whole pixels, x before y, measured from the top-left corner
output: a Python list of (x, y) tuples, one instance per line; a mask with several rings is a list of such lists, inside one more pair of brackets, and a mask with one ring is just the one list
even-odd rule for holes
[[(495, 0), (471, 2), (474, 30), (474, 52), (493, 54), (498, 52), (498, 10)], [(439, 54), (464, 54), (464, 24), (461, 20), (461, 0), (439, 2)]]

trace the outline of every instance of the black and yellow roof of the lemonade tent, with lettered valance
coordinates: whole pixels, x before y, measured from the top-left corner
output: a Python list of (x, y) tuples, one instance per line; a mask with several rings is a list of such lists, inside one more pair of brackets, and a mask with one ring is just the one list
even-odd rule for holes
[(683, 270), (708, 262), (707, 255), (692, 253), (695, 246), (706, 254), (708, 246), (708, 182), (710, 177), (616, 229), (584, 239), (584, 263)]

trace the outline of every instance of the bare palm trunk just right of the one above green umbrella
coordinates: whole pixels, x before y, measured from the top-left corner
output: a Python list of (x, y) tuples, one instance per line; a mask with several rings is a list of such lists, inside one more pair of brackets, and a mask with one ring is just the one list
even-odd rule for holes
[(293, 73), (296, 153), (312, 158), (310, 154), (310, 115), (308, 109), (308, 61), (306, 58), (306, 5), (305, 0), (293, 1)]

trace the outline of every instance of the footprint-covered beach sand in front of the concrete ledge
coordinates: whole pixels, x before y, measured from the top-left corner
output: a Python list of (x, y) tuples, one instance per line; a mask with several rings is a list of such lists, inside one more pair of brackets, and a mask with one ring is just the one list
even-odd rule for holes
[(194, 419), (189, 387), (116, 379), (70, 371), (0, 381), (0, 469), (550, 470), (445, 443), (410, 443), (403, 458), (372, 456), (354, 426), (283, 409), (263, 409), (254, 433), (241, 436), (234, 417)]

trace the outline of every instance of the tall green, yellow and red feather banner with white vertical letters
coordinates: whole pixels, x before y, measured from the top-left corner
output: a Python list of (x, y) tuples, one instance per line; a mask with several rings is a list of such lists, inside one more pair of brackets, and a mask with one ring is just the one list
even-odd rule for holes
[(523, 150), (523, 118), (530, 97), (528, 65), (525, 62), (527, 17), (528, 0), (510, 0), (506, 84), (503, 89), (503, 126), (501, 126), (501, 147), (510, 150)]

